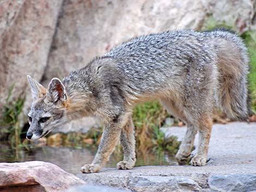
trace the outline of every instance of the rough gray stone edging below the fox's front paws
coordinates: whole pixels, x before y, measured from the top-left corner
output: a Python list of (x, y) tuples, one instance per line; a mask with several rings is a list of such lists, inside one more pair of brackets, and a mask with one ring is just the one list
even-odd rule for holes
[[(139, 168), (138, 168), (139, 169)], [(149, 168), (150, 169), (150, 168)], [(200, 191), (198, 183), (190, 177), (147, 175), (147, 170), (140, 169), (141, 174), (130, 174), (130, 171), (114, 171), (99, 174), (78, 174), (88, 184), (109, 185), (129, 191)], [(137, 170), (139, 171), (139, 170)], [(146, 171), (146, 172), (145, 172)], [(127, 173), (128, 172), (128, 173)], [(145, 175), (144, 175), (145, 174)]]

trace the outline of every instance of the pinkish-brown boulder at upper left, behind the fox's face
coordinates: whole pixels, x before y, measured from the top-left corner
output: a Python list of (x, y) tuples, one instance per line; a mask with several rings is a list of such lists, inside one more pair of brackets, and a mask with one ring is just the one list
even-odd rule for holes
[(44, 75), (60, 5), (62, 0), (0, 3), (1, 110), (12, 85), (11, 100), (15, 100), (28, 93), (26, 75), (36, 80)]

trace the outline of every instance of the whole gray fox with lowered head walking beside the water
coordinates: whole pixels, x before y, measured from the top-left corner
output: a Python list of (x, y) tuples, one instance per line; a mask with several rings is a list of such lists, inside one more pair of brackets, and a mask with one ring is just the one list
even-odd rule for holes
[(231, 119), (247, 119), (247, 73), (247, 48), (228, 31), (139, 36), (63, 80), (53, 78), (47, 89), (28, 76), (34, 100), (27, 138), (39, 139), (54, 127), (95, 115), (105, 128), (92, 164), (84, 165), (82, 172), (99, 171), (119, 140), (124, 159), (117, 168), (132, 169), (136, 162), (132, 109), (157, 99), (187, 125), (176, 158), (182, 162), (191, 155), (199, 132), (191, 164), (202, 166), (208, 155), (212, 109), (221, 108)]

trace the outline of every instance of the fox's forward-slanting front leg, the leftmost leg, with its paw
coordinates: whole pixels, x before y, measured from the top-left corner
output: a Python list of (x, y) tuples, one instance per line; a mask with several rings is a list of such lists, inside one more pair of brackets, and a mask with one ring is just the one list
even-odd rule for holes
[(121, 126), (119, 123), (111, 122), (106, 125), (93, 163), (84, 165), (81, 168), (84, 174), (100, 171), (114, 151), (114, 147), (119, 141), (120, 133)]

